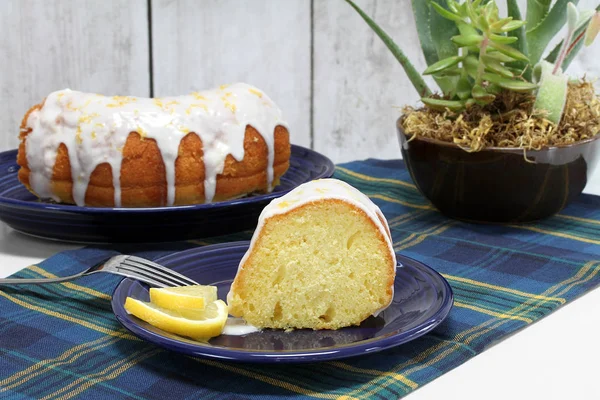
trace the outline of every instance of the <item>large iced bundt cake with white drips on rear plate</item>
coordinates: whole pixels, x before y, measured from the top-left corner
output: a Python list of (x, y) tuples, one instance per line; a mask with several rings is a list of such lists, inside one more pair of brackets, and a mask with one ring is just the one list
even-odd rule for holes
[(19, 180), (57, 202), (155, 207), (270, 191), (289, 167), (279, 108), (243, 83), (138, 98), (60, 90), (21, 124)]

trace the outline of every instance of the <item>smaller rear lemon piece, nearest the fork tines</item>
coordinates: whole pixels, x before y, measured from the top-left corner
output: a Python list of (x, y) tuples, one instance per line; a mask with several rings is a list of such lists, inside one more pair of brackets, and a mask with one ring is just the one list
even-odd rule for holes
[(194, 285), (150, 288), (150, 302), (167, 310), (203, 309), (215, 300), (217, 300), (216, 286)]

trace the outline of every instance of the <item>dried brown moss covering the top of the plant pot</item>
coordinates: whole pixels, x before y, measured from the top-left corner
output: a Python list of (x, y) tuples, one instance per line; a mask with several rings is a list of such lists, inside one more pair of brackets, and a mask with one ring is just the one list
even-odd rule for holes
[(406, 107), (401, 123), (410, 139), (438, 139), (466, 151), (487, 147), (539, 150), (589, 139), (600, 131), (600, 98), (590, 82), (569, 83), (565, 112), (558, 125), (532, 114), (534, 100), (532, 95), (503, 92), (492, 104), (460, 114)]

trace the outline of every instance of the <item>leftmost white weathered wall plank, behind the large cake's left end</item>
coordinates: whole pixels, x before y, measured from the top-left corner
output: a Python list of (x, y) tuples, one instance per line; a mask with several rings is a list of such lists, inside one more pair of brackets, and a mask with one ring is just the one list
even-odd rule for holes
[(2, 150), (54, 90), (149, 94), (146, 0), (3, 0), (0, 33)]

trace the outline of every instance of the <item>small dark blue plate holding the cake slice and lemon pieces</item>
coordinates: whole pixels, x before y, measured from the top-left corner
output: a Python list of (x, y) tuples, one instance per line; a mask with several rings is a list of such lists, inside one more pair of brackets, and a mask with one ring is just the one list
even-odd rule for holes
[[(249, 242), (233, 242), (186, 250), (158, 260), (195, 281), (216, 285), (225, 299)], [(209, 343), (164, 332), (128, 314), (127, 296), (149, 301), (148, 286), (124, 279), (115, 289), (112, 308), (119, 322), (140, 338), (180, 353), (220, 360), (296, 363), (334, 360), (384, 350), (432, 330), (452, 307), (452, 290), (437, 272), (399, 256), (394, 301), (378, 317), (358, 327), (331, 330), (264, 330), (244, 336), (221, 335)]]

